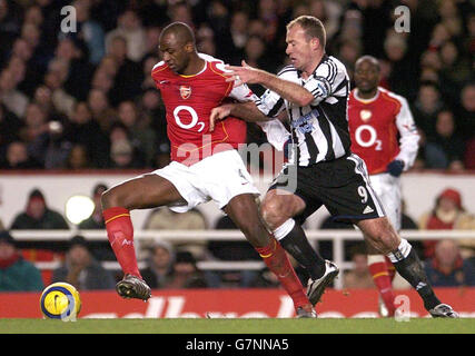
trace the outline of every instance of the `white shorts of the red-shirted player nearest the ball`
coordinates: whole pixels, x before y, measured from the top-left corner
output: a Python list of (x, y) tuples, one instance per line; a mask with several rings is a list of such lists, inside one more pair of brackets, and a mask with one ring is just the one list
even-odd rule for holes
[(189, 167), (172, 161), (152, 174), (169, 180), (187, 201), (170, 206), (176, 212), (186, 212), (209, 200), (215, 200), (222, 209), (238, 195), (259, 195), (243, 159), (234, 149), (215, 154)]

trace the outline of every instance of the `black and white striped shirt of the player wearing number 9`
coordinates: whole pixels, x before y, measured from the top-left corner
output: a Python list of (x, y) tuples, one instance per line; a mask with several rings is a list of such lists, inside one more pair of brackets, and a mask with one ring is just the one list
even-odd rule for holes
[(349, 78), (345, 66), (335, 57), (324, 55), (306, 80), (291, 65), (284, 67), (277, 76), (304, 86), (315, 98), (310, 105), (299, 107), (266, 90), (256, 100), (259, 110), (268, 117), (277, 117), (284, 109), (287, 110), (294, 144), (289, 162), (309, 166), (348, 155)]

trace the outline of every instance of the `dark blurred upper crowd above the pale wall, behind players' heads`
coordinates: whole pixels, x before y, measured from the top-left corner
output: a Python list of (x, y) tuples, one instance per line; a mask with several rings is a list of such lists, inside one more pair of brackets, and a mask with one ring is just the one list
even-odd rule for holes
[[(61, 31), (69, 4), (75, 32)], [(394, 27), (400, 4), (409, 32)], [(150, 77), (160, 30), (184, 21), (200, 52), (276, 72), (285, 26), (300, 14), (323, 20), (327, 52), (350, 76), (359, 56), (380, 60), (380, 85), (408, 99), (423, 137), (416, 169), (473, 169), (473, 10), (469, 0), (0, 0), (0, 169), (162, 167), (165, 108)], [(254, 126), (249, 140), (263, 140)]]

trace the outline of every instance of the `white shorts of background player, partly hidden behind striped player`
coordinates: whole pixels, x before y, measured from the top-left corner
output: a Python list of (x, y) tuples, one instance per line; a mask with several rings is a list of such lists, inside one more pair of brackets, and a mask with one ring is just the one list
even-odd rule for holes
[(383, 202), (385, 212), (396, 231), (400, 230), (402, 192), (400, 179), (389, 174), (369, 176), (370, 185), (379, 200)]

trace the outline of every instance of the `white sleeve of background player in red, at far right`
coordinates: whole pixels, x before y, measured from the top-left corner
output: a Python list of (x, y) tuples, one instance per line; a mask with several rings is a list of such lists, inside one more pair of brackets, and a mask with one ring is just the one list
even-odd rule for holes
[(400, 110), (396, 116), (396, 126), (400, 135), (399, 148), (400, 152), (396, 156), (396, 159), (404, 161), (404, 170), (409, 169), (417, 157), (419, 148), (419, 134), (417, 134), (417, 127), (414, 122), (413, 113), (410, 112), (407, 100), (403, 97), (398, 98), (402, 106)]

